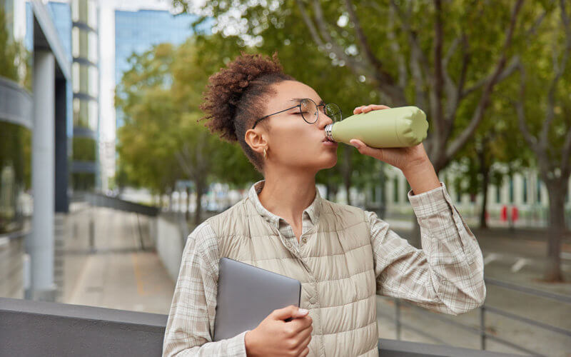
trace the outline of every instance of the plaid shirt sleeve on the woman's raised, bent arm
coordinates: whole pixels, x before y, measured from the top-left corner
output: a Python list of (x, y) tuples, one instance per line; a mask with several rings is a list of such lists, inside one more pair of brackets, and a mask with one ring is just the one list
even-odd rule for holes
[(482, 251), (445, 184), (418, 195), (409, 191), (408, 199), (420, 225), (422, 249), (365, 211), (377, 293), (451, 315), (481, 306), (486, 296)]

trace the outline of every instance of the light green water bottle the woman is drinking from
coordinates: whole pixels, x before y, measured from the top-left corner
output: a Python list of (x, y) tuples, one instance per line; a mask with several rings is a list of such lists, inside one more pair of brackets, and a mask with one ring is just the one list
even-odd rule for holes
[(416, 106), (369, 111), (325, 126), (325, 136), (331, 141), (350, 145), (359, 139), (373, 148), (404, 148), (426, 139), (426, 114)]

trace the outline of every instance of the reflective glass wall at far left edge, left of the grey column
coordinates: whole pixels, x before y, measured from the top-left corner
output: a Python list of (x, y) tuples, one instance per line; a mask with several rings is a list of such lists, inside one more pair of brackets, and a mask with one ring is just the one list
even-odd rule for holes
[(0, 0), (0, 234), (23, 228), (31, 186), (31, 60), (24, 36), (25, 4)]

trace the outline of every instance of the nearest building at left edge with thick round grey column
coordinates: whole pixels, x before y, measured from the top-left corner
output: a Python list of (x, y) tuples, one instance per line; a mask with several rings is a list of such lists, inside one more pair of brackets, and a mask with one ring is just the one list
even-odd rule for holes
[(69, 207), (66, 6), (0, 0), (0, 296), (56, 298), (56, 228)]

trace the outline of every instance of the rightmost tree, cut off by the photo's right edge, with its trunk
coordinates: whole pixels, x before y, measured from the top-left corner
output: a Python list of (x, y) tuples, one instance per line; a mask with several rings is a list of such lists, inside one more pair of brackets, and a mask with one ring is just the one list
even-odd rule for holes
[[(571, 20), (565, 0), (550, 11), (542, 32), (545, 41), (528, 43), (520, 71), (520, 88), (513, 101), (525, 142), (535, 154), (549, 194), (550, 236), (546, 281), (562, 281), (561, 243), (566, 231), (565, 196), (571, 174)], [(549, 54), (550, 56), (541, 56)], [(567, 69), (567, 70), (566, 70)], [(530, 100), (533, 98), (533, 100)]]

